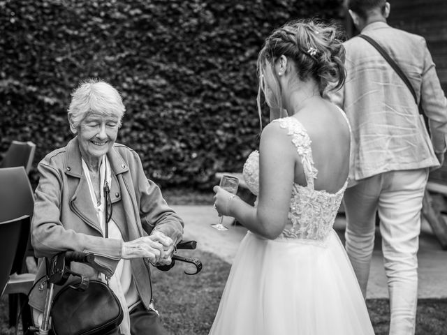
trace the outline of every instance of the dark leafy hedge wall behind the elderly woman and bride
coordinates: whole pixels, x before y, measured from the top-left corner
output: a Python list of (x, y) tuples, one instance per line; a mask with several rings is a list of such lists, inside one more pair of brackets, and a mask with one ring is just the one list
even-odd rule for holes
[(342, 1), (0, 1), (0, 159), (12, 140), (36, 143), (36, 186), (38, 161), (72, 137), (71, 91), (100, 77), (122, 92), (118, 142), (147, 177), (208, 188), (258, 146), (264, 38), (298, 17), (341, 22)]

